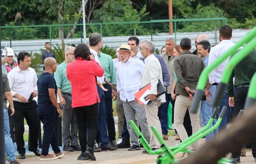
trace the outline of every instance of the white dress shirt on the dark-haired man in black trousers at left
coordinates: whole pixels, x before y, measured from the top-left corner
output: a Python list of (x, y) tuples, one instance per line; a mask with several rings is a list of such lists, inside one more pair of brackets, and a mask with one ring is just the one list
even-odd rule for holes
[[(9, 80), (12, 96), (17, 93), (24, 96), (28, 102), (31, 93), (37, 91), (37, 76), (36, 71), (33, 68), (29, 67), (27, 70), (21, 71), (19, 66), (15, 67), (7, 74), (7, 77)], [(13, 101), (20, 102), (17, 98), (14, 97)]]

